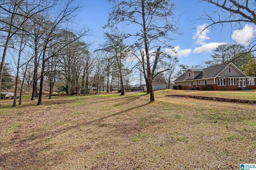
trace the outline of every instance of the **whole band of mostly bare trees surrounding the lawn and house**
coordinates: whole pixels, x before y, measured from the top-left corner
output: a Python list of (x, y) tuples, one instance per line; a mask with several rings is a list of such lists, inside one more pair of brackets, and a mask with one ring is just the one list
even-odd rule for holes
[[(162, 52), (162, 49), (174, 50), (169, 44), (173, 40), (170, 34), (181, 34), (174, 16), (175, 4), (170, 0), (110, 1), (113, 7), (104, 25), (108, 31), (104, 32), (105, 41), (97, 49), (92, 49), (92, 43), (84, 41), (92, 35), (90, 28), (72, 29), (80, 8), (74, 5), (73, 0), (0, 1), (0, 47), (3, 49), (0, 91), (2, 87), (6, 89), (7, 84), (2, 82), (7, 82), (6, 78), (10, 76), (6, 65), (8, 56), (14, 61), (11, 64), (15, 72), (14, 107), (18, 93), (19, 104), (22, 103), (24, 88), (31, 88), (31, 100), (38, 97), (38, 105), (41, 105), (46, 86), (51, 98), (56, 84), (62, 84), (58, 86), (58, 91), (71, 95), (77, 95), (80, 88), (82, 94), (98, 94), (104, 87), (111, 92), (112, 86), (117, 84), (117, 89), (120, 88), (121, 95), (124, 95), (124, 87), (134, 78), (133, 74), (139, 75), (140, 85), (145, 82), (150, 102), (154, 101), (153, 80), (162, 81), (165, 77), (170, 88), (178, 59)], [(220, 12), (234, 14), (234, 20), (228, 22), (255, 24), (255, 12), (250, 9), (254, 4), (251, 2), (239, 4), (225, 0), (221, 5), (213, 0), (205, 1), (222, 8)], [(243, 11), (228, 10), (226, 6), (230, 9), (236, 6)], [(205, 29), (226, 22), (225, 18), (215, 22), (207, 13), (206, 16), (212, 24)], [(122, 32), (122, 27), (138, 29)], [(134, 43), (127, 45), (127, 39), (134, 39)], [(250, 45), (249, 50), (242, 45), (222, 45), (214, 51), (212, 60), (206, 61), (206, 65), (233, 61), (242, 70), (251, 70), (246, 66), (252, 64), (246, 63), (254, 62), (251, 52), (255, 45)], [(178, 74), (187, 67), (179, 66)]]

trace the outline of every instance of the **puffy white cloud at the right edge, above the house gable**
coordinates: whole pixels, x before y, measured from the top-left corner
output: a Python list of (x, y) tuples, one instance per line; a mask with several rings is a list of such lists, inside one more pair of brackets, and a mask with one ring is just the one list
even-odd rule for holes
[(252, 38), (255, 38), (256, 27), (254, 25), (245, 24), (243, 29), (234, 30), (232, 39), (239, 44), (248, 45)]

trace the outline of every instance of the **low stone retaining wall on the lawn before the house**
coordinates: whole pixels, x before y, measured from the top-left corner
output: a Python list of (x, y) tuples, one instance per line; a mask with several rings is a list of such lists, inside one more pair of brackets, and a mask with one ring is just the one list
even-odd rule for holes
[(217, 98), (217, 97), (208, 97), (208, 96), (193, 96), (193, 95), (179, 95), (179, 94), (172, 94), (172, 95), (166, 95), (166, 96), (175, 96), (175, 97), (202, 99), (202, 100), (214, 100), (214, 101), (220, 101), (220, 102), (256, 104), (256, 100), (245, 100), (245, 99), (230, 99), (230, 98)]

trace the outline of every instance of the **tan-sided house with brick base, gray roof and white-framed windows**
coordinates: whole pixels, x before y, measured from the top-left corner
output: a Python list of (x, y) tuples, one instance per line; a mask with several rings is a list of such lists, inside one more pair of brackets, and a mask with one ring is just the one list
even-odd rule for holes
[(233, 63), (203, 69), (189, 68), (174, 80), (181, 89), (202, 88), (211, 84), (213, 90), (247, 90), (256, 89), (256, 77), (246, 76)]

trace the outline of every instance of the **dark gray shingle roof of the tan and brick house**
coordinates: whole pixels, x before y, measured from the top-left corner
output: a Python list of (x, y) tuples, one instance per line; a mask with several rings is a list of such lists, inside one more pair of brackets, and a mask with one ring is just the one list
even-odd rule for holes
[[(203, 69), (201, 69), (202, 72), (200, 72), (195, 78), (192, 78), (192, 79), (186, 79), (186, 72), (184, 72), (181, 76), (179, 76), (176, 80), (174, 80), (174, 82), (180, 82), (180, 81), (186, 81), (186, 80), (198, 80), (198, 79), (204, 79), (204, 78), (214, 78), (222, 70), (224, 70), (224, 68), (226, 68), (226, 66), (228, 66), (228, 64), (222, 64), (220, 66), (203, 68)], [(196, 70), (198, 70), (198, 69), (196, 69)]]

